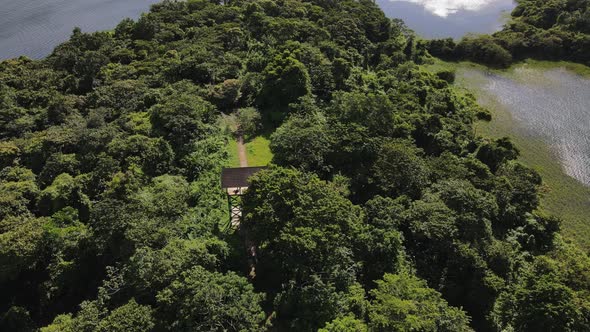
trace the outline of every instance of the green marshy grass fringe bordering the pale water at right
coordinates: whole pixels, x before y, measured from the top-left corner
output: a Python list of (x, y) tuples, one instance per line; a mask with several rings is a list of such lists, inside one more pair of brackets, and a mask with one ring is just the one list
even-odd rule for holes
[[(485, 77), (474, 72), (493, 73), (514, 79), (518, 70), (566, 69), (590, 78), (590, 68), (567, 62), (526, 61), (507, 70), (490, 70), (472, 63), (440, 62), (427, 66), (429, 70), (453, 69), (456, 85), (473, 93), (480, 104), (493, 115), (491, 122), (479, 122), (475, 126), (478, 135), (490, 138), (509, 136), (521, 150), (519, 160), (538, 171), (543, 177), (540, 210), (563, 219), (562, 234), (584, 248), (590, 248), (590, 187), (567, 175), (556, 151), (541, 136), (531, 134), (526, 124), (515, 118), (498, 96), (485, 89)], [(546, 96), (542, 96), (546, 98)]]

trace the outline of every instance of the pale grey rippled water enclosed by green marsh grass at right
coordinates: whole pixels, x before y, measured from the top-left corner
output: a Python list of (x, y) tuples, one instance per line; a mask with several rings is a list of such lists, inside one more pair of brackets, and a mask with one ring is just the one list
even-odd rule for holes
[(505, 107), (529, 139), (546, 142), (566, 174), (590, 185), (590, 79), (565, 69), (460, 72)]

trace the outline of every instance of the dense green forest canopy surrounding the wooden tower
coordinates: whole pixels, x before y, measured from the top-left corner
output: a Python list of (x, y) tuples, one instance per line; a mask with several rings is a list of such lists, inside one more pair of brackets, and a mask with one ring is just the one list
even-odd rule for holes
[[(587, 48), (587, 4), (490, 38)], [(0, 63), (0, 330), (590, 330), (590, 259), (427, 49), (370, 0), (189, 0)], [(274, 154), (240, 232), (231, 116)]]

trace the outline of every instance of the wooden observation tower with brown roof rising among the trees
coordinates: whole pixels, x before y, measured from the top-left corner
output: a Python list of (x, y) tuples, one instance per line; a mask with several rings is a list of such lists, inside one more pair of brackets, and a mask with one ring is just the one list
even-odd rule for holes
[(238, 167), (221, 170), (221, 188), (227, 194), (229, 226), (238, 228), (242, 219), (241, 196), (248, 190), (248, 178), (266, 167)]

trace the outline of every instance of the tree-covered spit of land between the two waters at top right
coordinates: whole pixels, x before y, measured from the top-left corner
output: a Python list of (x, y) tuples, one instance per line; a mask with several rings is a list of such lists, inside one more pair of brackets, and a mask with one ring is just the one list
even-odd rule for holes
[(428, 41), (434, 56), (508, 67), (527, 58), (590, 65), (590, 4), (585, 0), (518, 0), (511, 21), (492, 36)]

